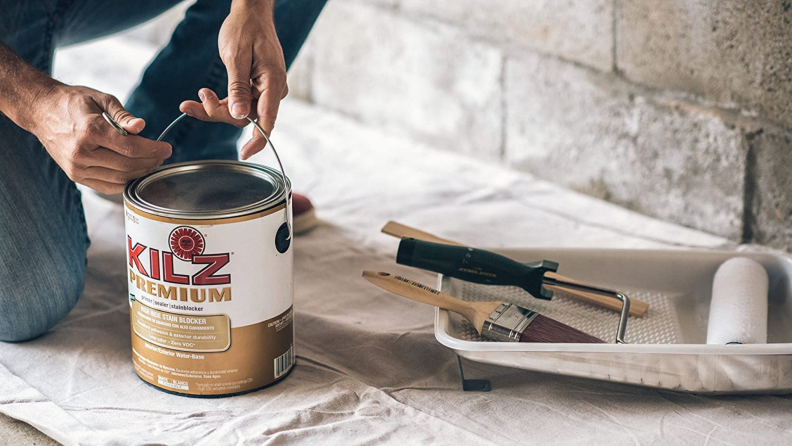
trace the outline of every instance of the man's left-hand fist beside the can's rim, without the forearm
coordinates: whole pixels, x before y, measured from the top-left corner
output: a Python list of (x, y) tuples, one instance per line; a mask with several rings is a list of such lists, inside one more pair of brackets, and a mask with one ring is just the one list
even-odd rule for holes
[[(145, 122), (113, 96), (86, 87), (56, 84), (38, 96), (29, 129), (73, 181), (114, 194), (130, 180), (159, 167), (170, 144), (136, 136)], [(106, 112), (128, 136), (102, 117)]]

